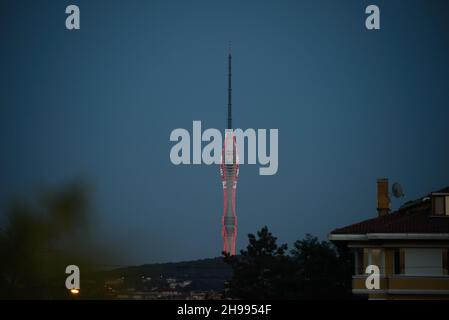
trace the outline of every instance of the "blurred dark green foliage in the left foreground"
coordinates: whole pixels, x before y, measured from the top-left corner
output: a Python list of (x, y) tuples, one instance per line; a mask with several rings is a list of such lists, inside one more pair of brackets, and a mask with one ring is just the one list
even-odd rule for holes
[[(70, 298), (65, 268), (83, 270), (83, 297), (103, 294), (91, 288), (89, 258), (78, 250), (87, 215), (85, 186), (73, 183), (39, 193), (36, 201), (16, 198), (0, 228), (0, 299)], [(100, 293), (99, 293), (100, 292)]]

